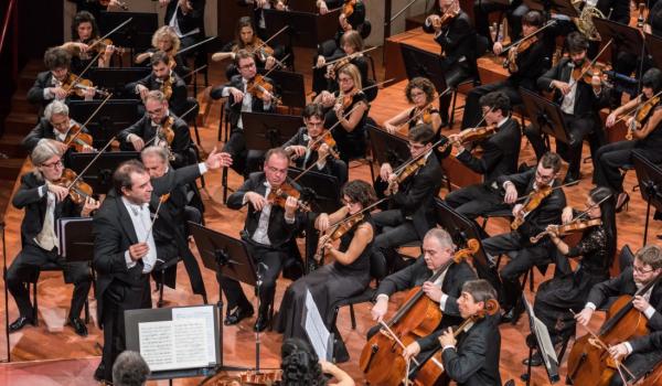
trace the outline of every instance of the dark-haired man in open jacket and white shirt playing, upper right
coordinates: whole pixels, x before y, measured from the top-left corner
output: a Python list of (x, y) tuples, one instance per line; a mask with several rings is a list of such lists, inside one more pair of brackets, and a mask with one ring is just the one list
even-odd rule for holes
[[(560, 62), (547, 71), (537, 81), (538, 88), (554, 92), (554, 101), (560, 106), (563, 119), (569, 133), (569, 146), (556, 141), (557, 152), (568, 161), (568, 171), (564, 183), (579, 180), (579, 167), (581, 165), (581, 146), (588, 137), (594, 164), (597, 163), (596, 151), (606, 142), (605, 132), (598, 127), (598, 111), (608, 104), (609, 93), (602, 87), (599, 76), (578, 79), (584, 73), (584, 66), (590, 60), (586, 57), (588, 40), (579, 32), (573, 32), (566, 37), (566, 45), (570, 57), (562, 58)], [(584, 73), (584, 74), (583, 74)], [(596, 74), (594, 74), (596, 75)], [(530, 125), (524, 133), (540, 159), (545, 151), (545, 143), (537, 126)]]

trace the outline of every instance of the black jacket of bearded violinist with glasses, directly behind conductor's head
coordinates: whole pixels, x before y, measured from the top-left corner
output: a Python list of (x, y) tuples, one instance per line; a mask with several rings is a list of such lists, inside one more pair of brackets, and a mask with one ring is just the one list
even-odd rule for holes
[[(174, 156), (174, 160), (171, 162), (174, 168), (180, 168), (182, 165), (186, 165), (191, 163), (191, 132), (189, 131), (189, 125), (177, 118), (177, 116), (171, 111), (170, 117), (174, 118), (174, 122), (172, 124), (172, 130), (174, 131), (174, 138), (172, 139), (172, 143), (170, 143), (170, 149)], [(136, 124), (129, 126), (128, 128), (121, 130), (117, 135), (117, 140), (119, 141), (119, 147), (124, 151), (135, 151), (131, 142), (127, 140), (129, 135), (136, 135), (145, 142), (151, 141), (149, 146), (154, 144), (152, 138), (157, 135), (157, 127), (152, 126), (151, 118), (148, 114), (146, 114)]]

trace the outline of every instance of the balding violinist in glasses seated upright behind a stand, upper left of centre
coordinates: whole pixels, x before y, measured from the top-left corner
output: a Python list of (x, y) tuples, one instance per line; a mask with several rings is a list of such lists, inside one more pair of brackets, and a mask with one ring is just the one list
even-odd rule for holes
[[(235, 75), (229, 83), (223, 86), (216, 86), (212, 89), (211, 96), (214, 99), (231, 97), (226, 104), (227, 119), (232, 131), (229, 140), (225, 143), (223, 151), (232, 154), (232, 168), (239, 174), (246, 176), (246, 139), (244, 138), (244, 122), (242, 120), (243, 111), (254, 112), (274, 112), (276, 103), (269, 92), (258, 93), (254, 87), (257, 67), (255, 66), (255, 56), (246, 50), (241, 50), (235, 56), (235, 62), (239, 68), (239, 75)], [(271, 79), (264, 78), (265, 82), (275, 86)], [(257, 97), (257, 95), (260, 95)]]

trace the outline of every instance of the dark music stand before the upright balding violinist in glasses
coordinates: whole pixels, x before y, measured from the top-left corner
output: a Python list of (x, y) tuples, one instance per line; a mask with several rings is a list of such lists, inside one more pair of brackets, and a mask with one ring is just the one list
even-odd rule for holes
[(282, 146), (302, 125), (300, 116), (271, 112), (242, 112), (246, 149), (267, 151)]

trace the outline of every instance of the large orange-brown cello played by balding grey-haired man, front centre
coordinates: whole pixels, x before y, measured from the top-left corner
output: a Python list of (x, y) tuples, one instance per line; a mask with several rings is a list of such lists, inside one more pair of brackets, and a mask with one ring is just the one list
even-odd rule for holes
[[(468, 248), (456, 251), (452, 259), (442, 265), (427, 281), (435, 282), (451, 264), (459, 264), (480, 248), (476, 239), (470, 239), (467, 245)], [(407, 368), (403, 350), (415, 340), (433, 333), (442, 317), (439, 304), (425, 294), (423, 286), (412, 289), (403, 307), (363, 346), (359, 367), (365, 380), (371, 385), (399, 385), (406, 376)]]

